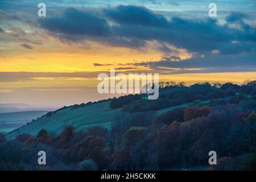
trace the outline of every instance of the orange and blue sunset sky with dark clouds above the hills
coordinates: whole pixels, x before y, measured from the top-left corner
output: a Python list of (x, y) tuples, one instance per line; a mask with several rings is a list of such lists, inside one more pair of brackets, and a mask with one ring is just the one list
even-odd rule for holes
[(0, 0), (0, 103), (113, 97), (97, 93), (112, 68), (188, 85), (256, 80), (255, 9), (254, 0)]

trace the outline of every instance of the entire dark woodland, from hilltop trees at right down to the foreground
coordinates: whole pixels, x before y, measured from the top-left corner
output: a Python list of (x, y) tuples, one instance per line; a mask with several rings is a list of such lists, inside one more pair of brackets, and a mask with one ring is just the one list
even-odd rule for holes
[[(0, 169), (256, 169), (256, 81), (159, 86), (158, 100), (145, 94), (113, 98), (110, 107), (122, 113), (110, 130), (66, 126), (57, 137), (42, 129), (36, 137), (20, 134), (14, 140), (0, 134)], [(46, 151), (46, 166), (38, 165), (40, 150)], [(218, 160), (209, 166), (212, 150)]]

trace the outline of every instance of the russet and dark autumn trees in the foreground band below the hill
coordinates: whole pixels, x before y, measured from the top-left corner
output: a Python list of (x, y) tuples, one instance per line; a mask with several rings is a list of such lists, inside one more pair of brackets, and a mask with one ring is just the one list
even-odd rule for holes
[(56, 138), (46, 130), (36, 138), (20, 134), (15, 140), (2, 140), (0, 167), (39, 169), (36, 151), (45, 150), (50, 167), (40, 169), (181, 169), (208, 166), (208, 152), (214, 150), (217, 166), (208, 170), (255, 169), (256, 114), (245, 108), (217, 106), (207, 117), (159, 122), (158, 127), (154, 122), (150, 127), (130, 127), (122, 131), (121, 144), (113, 150), (110, 133), (99, 126), (84, 132), (67, 126)]

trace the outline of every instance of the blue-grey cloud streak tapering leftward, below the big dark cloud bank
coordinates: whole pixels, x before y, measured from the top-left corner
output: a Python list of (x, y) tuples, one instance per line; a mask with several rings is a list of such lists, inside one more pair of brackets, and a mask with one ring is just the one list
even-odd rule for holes
[[(159, 61), (143, 61), (127, 65), (147, 67), (154, 70), (158, 69), (159, 71), (180, 69), (182, 73), (256, 71), (256, 55), (208, 55), (180, 61), (172, 61), (171, 58), (169, 60), (165, 58)], [(195, 70), (191, 71), (188, 69)]]

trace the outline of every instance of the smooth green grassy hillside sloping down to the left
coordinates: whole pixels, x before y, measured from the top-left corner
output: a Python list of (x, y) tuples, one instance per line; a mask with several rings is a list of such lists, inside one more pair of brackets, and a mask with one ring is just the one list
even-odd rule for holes
[(110, 122), (121, 111), (121, 109), (110, 109), (109, 103), (110, 101), (107, 101), (84, 107), (68, 107), (67, 109), (55, 111), (49, 116), (44, 115), (26, 126), (20, 127), (18, 130), (8, 134), (6, 138), (14, 139), (16, 135), (22, 133), (29, 133), (35, 136), (41, 129), (46, 129), (49, 133), (57, 135), (67, 125), (74, 126), (77, 131), (84, 130), (93, 125), (109, 128)]

